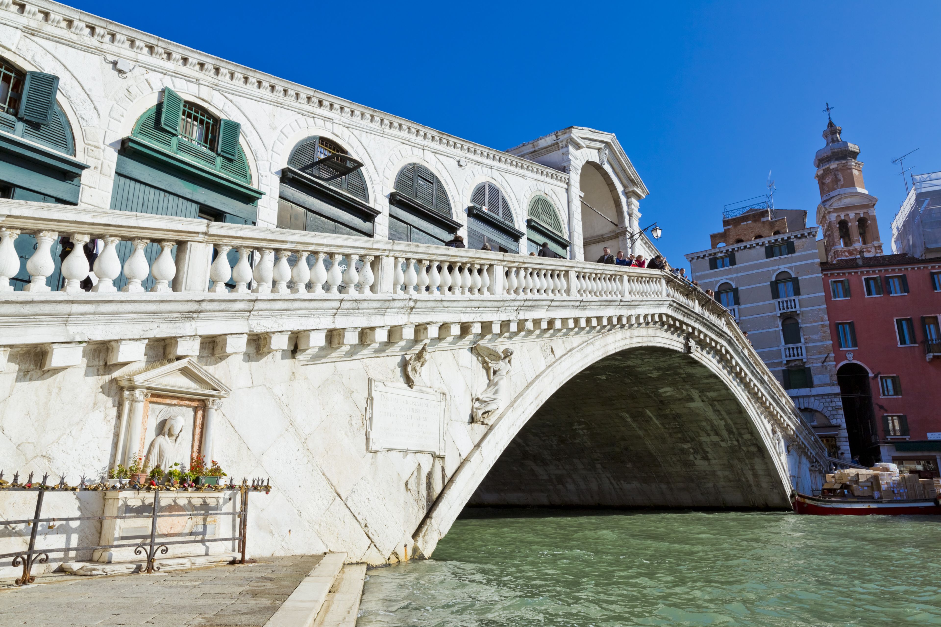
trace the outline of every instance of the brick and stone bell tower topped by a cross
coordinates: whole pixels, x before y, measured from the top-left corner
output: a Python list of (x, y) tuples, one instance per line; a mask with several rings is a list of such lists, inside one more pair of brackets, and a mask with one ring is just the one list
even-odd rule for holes
[(841, 132), (842, 128), (828, 119), (823, 131), (826, 146), (814, 157), (815, 178), (821, 191), (817, 224), (823, 229), (823, 246), (830, 263), (883, 254), (876, 222), (879, 199), (866, 191), (863, 162), (856, 160), (859, 147), (844, 141)]

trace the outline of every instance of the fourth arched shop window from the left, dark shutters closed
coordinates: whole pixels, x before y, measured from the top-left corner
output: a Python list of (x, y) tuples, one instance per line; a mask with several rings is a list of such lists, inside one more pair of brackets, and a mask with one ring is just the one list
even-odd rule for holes
[(451, 200), (434, 173), (409, 164), (395, 177), (389, 196), (389, 239), (399, 242), (445, 243), (461, 224), (454, 219)]

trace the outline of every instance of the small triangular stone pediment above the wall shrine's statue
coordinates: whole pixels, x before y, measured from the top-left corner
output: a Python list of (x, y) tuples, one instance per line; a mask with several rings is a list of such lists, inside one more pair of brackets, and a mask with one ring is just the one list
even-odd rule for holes
[(124, 368), (115, 373), (114, 379), (126, 389), (187, 398), (224, 399), (231, 393), (226, 384), (199, 366), (192, 357)]

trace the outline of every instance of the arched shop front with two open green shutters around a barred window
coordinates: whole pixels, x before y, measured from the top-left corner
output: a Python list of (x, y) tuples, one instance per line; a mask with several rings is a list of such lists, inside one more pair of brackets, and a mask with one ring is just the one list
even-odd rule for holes
[[(166, 87), (160, 102), (121, 140), (111, 209), (255, 224), (263, 192), (252, 186), (241, 131), (238, 122), (217, 118)], [(131, 243), (119, 244), (122, 263), (131, 252)], [(151, 262), (159, 253), (157, 243), (144, 251)], [(148, 278), (143, 287), (150, 289), (152, 281)], [(124, 283), (121, 274), (115, 286)]]

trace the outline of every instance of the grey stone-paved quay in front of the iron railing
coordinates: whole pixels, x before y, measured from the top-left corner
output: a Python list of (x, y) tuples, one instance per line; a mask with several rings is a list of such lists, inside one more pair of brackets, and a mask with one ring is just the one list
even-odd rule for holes
[(266, 557), (244, 566), (62, 581), (48, 577), (44, 581), (50, 583), (0, 590), (0, 627), (262, 627), (322, 557)]

